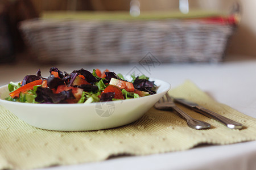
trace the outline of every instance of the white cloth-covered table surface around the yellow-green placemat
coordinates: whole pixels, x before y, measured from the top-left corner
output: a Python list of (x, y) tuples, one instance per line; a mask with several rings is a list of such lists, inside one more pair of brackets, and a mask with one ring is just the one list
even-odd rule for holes
[[(241, 56), (242, 58), (243, 56)], [(55, 65), (70, 72), (84, 68), (109, 69), (115, 73), (129, 74), (135, 70), (153, 78), (163, 79), (172, 87), (192, 80), (201, 90), (220, 103), (256, 118), (256, 57), (240, 61), (227, 59), (222, 63), (150, 63), (140, 65)], [(0, 65), (0, 86), (19, 81), (27, 74), (48, 75), (49, 65), (19, 62)], [(202, 145), (191, 150), (147, 156), (119, 156), (103, 162), (86, 163), (46, 169), (256, 169), (256, 141), (233, 145)]]

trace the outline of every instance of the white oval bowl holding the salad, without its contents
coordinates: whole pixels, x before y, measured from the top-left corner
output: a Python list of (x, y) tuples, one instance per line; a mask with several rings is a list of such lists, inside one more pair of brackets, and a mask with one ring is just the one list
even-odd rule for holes
[(143, 116), (163, 97), (171, 85), (154, 80), (156, 94), (137, 99), (90, 104), (31, 104), (7, 101), (8, 87), (0, 87), (0, 104), (20, 120), (36, 128), (60, 131), (85, 131), (115, 128), (130, 124)]

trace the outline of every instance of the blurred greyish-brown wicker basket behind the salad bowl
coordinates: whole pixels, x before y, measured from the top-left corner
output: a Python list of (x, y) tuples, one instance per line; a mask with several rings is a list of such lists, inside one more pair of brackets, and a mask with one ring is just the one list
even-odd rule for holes
[(231, 24), (194, 19), (27, 20), (20, 29), (42, 63), (220, 62)]

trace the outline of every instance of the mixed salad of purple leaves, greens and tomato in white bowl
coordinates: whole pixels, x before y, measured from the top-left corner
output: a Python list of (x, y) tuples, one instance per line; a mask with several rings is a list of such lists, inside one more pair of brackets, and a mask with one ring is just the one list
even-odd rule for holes
[(60, 71), (56, 67), (49, 69), (47, 78), (26, 75), (22, 82), (10, 82), (9, 101), (22, 103), (94, 103), (100, 101), (124, 100), (155, 94), (154, 81), (145, 75), (131, 75), (128, 82), (122, 74), (94, 69), (74, 70), (72, 73)]

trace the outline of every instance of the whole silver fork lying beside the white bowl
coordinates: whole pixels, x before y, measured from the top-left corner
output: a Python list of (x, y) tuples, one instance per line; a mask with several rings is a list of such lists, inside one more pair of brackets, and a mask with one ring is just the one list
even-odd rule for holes
[(175, 105), (174, 100), (168, 94), (166, 94), (166, 99), (164, 99), (164, 97), (162, 97), (162, 99), (160, 99), (158, 101), (158, 103), (156, 103), (154, 105), (154, 107), (159, 110), (174, 109), (174, 111), (179, 113), (181, 117), (183, 117), (185, 120), (187, 120), (187, 125), (189, 126), (189, 128), (193, 128), (193, 129), (210, 128), (210, 124), (208, 124), (207, 122), (196, 120), (195, 118), (189, 116), (187, 113), (185, 113), (180, 108), (178, 108)]

